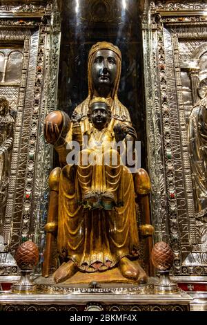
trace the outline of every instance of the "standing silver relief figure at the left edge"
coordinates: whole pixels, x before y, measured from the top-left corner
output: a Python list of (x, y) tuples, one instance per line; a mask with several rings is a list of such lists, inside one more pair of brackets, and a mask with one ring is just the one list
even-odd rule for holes
[(8, 100), (0, 97), (0, 226), (6, 210), (13, 140), (14, 118)]

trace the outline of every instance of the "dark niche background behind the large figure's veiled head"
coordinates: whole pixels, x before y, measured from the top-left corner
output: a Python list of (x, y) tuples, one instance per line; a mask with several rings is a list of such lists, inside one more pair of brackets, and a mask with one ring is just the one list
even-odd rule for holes
[(58, 109), (71, 116), (88, 95), (88, 52), (97, 41), (121, 50), (119, 100), (127, 107), (141, 140), (141, 167), (146, 163), (146, 114), (141, 22), (136, 0), (64, 0), (61, 9), (61, 55)]

